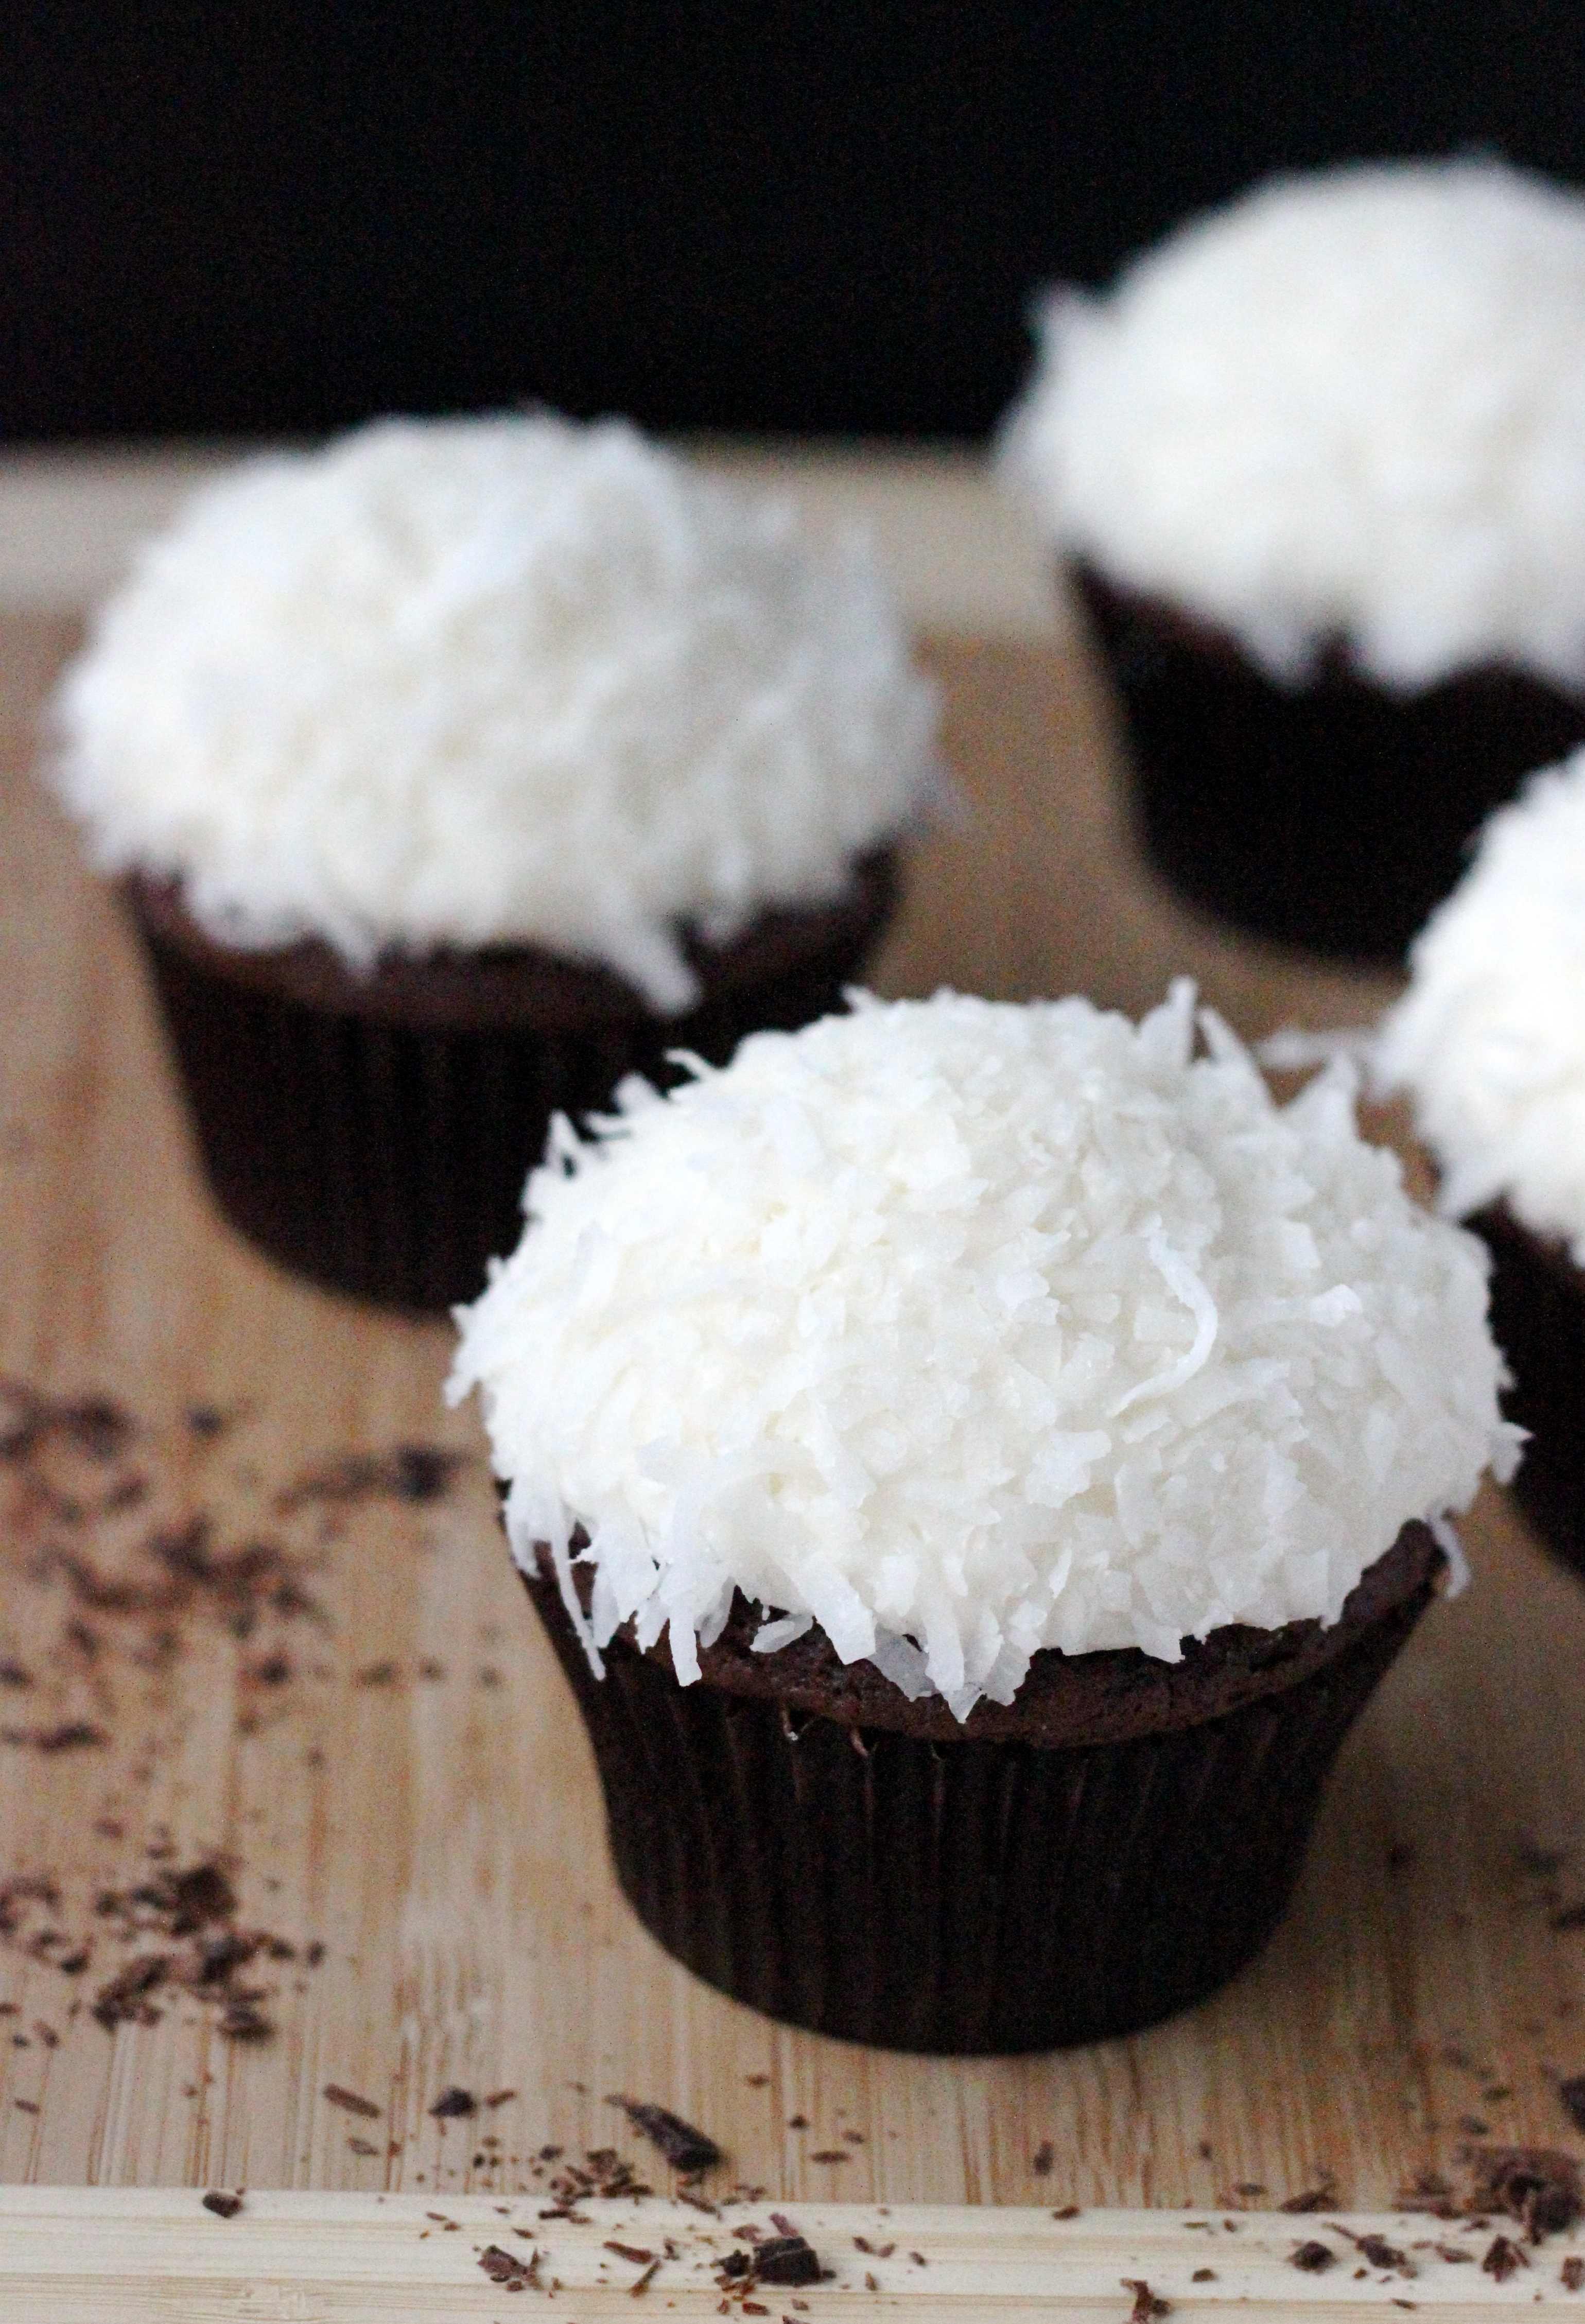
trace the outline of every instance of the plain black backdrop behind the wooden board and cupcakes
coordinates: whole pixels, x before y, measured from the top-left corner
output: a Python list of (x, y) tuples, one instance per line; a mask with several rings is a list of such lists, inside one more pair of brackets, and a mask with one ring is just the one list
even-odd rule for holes
[(1267, 170), (1585, 179), (1585, 0), (19, 0), (0, 40), (12, 437), (976, 435), (1034, 284)]

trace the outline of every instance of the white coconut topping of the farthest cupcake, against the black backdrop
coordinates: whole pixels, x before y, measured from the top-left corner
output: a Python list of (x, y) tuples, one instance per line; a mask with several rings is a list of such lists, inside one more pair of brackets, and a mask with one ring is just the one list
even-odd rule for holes
[(1585, 690), (1585, 198), (1494, 160), (1276, 179), (1050, 295), (1011, 469), (1067, 551), (1297, 681)]

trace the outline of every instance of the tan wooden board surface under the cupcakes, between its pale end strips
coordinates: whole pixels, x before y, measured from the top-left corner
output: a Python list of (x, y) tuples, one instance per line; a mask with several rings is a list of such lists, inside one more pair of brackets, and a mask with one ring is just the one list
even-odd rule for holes
[[(23, 1736), (0, 1745), (0, 1882), (60, 1892), (23, 1899), (0, 1943), (0, 2180), (509, 2201), (546, 2143), (644, 2161), (611, 2092), (704, 2124), (737, 2180), (788, 2203), (1048, 2215), (1243, 2187), (1262, 2205), (1329, 2173), (1336, 2201), (1387, 2208), (1415, 2173), (1453, 2173), (1469, 2136), (1578, 2147), (1557, 2082), (1585, 2071), (1585, 1929), (1552, 1922), (1585, 1896), (1585, 1592), (1494, 1492), (1466, 1527), (1476, 1587), (1432, 1608), (1350, 1741), (1290, 1922), (1206, 2008), (1071, 2054), (906, 2059), (767, 2024), (651, 1945), (607, 1871), (588, 1752), (500, 1548), (474, 1418), (439, 1408), (449, 1329), (288, 1281), (207, 1206), (132, 946), (28, 781), (72, 637), (65, 618), (0, 618), (0, 1376), (139, 1415), (112, 1466), (142, 1473), (149, 1501), (86, 1522), (107, 1571), (142, 1571), (153, 1511), (207, 1508), (221, 1548), (277, 1543), (323, 1627), (270, 1615), (237, 1638), (198, 1592), (160, 1645), (146, 1613), (84, 1611), (49, 1555), (60, 1520), (0, 1466), (0, 1662), (35, 1671), (30, 1690), (0, 1685), (0, 1729)], [(883, 990), (1090, 990), (1136, 1011), (1188, 969), (1246, 1034), (1380, 1006), (1380, 978), (1234, 944), (1139, 871), (1078, 651), (930, 651), (967, 816), (918, 855)], [(193, 1406), (237, 1418), (202, 1439)], [(444, 1499), (279, 1508), (314, 1462), (411, 1441), (472, 1457)], [(81, 1545), (84, 1522), (65, 1534)], [(260, 1678), (272, 1655), (288, 1678)], [(40, 1748), (72, 1722), (105, 1741)], [(105, 2031), (86, 2003), (128, 1948), (95, 1896), (216, 1852), (239, 1924), (297, 1948), (251, 1971), (272, 2036), (230, 2040), (184, 1992), (158, 2024)], [(53, 1957), (93, 1941), (77, 1975), (28, 1950), (51, 1917)], [(379, 2117), (328, 2103), (328, 2082)], [(511, 2096), (446, 2122), (430, 2115), (446, 2085)], [(7, 2201), (14, 2224), (33, 2217)], [(291, 2217), (307, 2233), (316, 2212)], [(225, 2224), (198, 2226), (225, 2250)], [(474, 2310), (488, 2301), (456, 2312)], [(242, 2310), (216, 2289), (202, 2312)], [(370, 2294), (314, 2312), (397, 2308)]]

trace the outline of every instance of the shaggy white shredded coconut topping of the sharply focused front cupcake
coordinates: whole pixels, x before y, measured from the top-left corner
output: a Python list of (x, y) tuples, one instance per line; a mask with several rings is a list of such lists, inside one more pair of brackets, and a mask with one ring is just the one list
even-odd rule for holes
[(741, 1590), (762, 1650), (818, 1622), (967, 1717), (1039, 1648), (1336, 1620), (1511, 1462), (1480, 1246), (1188, 983), (1139, 1027), (858, 995), (562, 1125), (528, 1213), (449, 1394), (597, 1666), (632, 1620), (695, 1678)]

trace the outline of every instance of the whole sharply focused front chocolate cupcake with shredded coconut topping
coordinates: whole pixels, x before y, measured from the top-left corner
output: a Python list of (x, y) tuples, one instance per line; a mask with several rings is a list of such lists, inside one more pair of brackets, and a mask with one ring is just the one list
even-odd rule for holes
[(776, 2017), (1004, 2052), (1213, 1992), (1508, 1464), (1478, 1246), (1199, 1023), (760, 1034), (537, 1174), (460, 1318), (623, 1889)]

